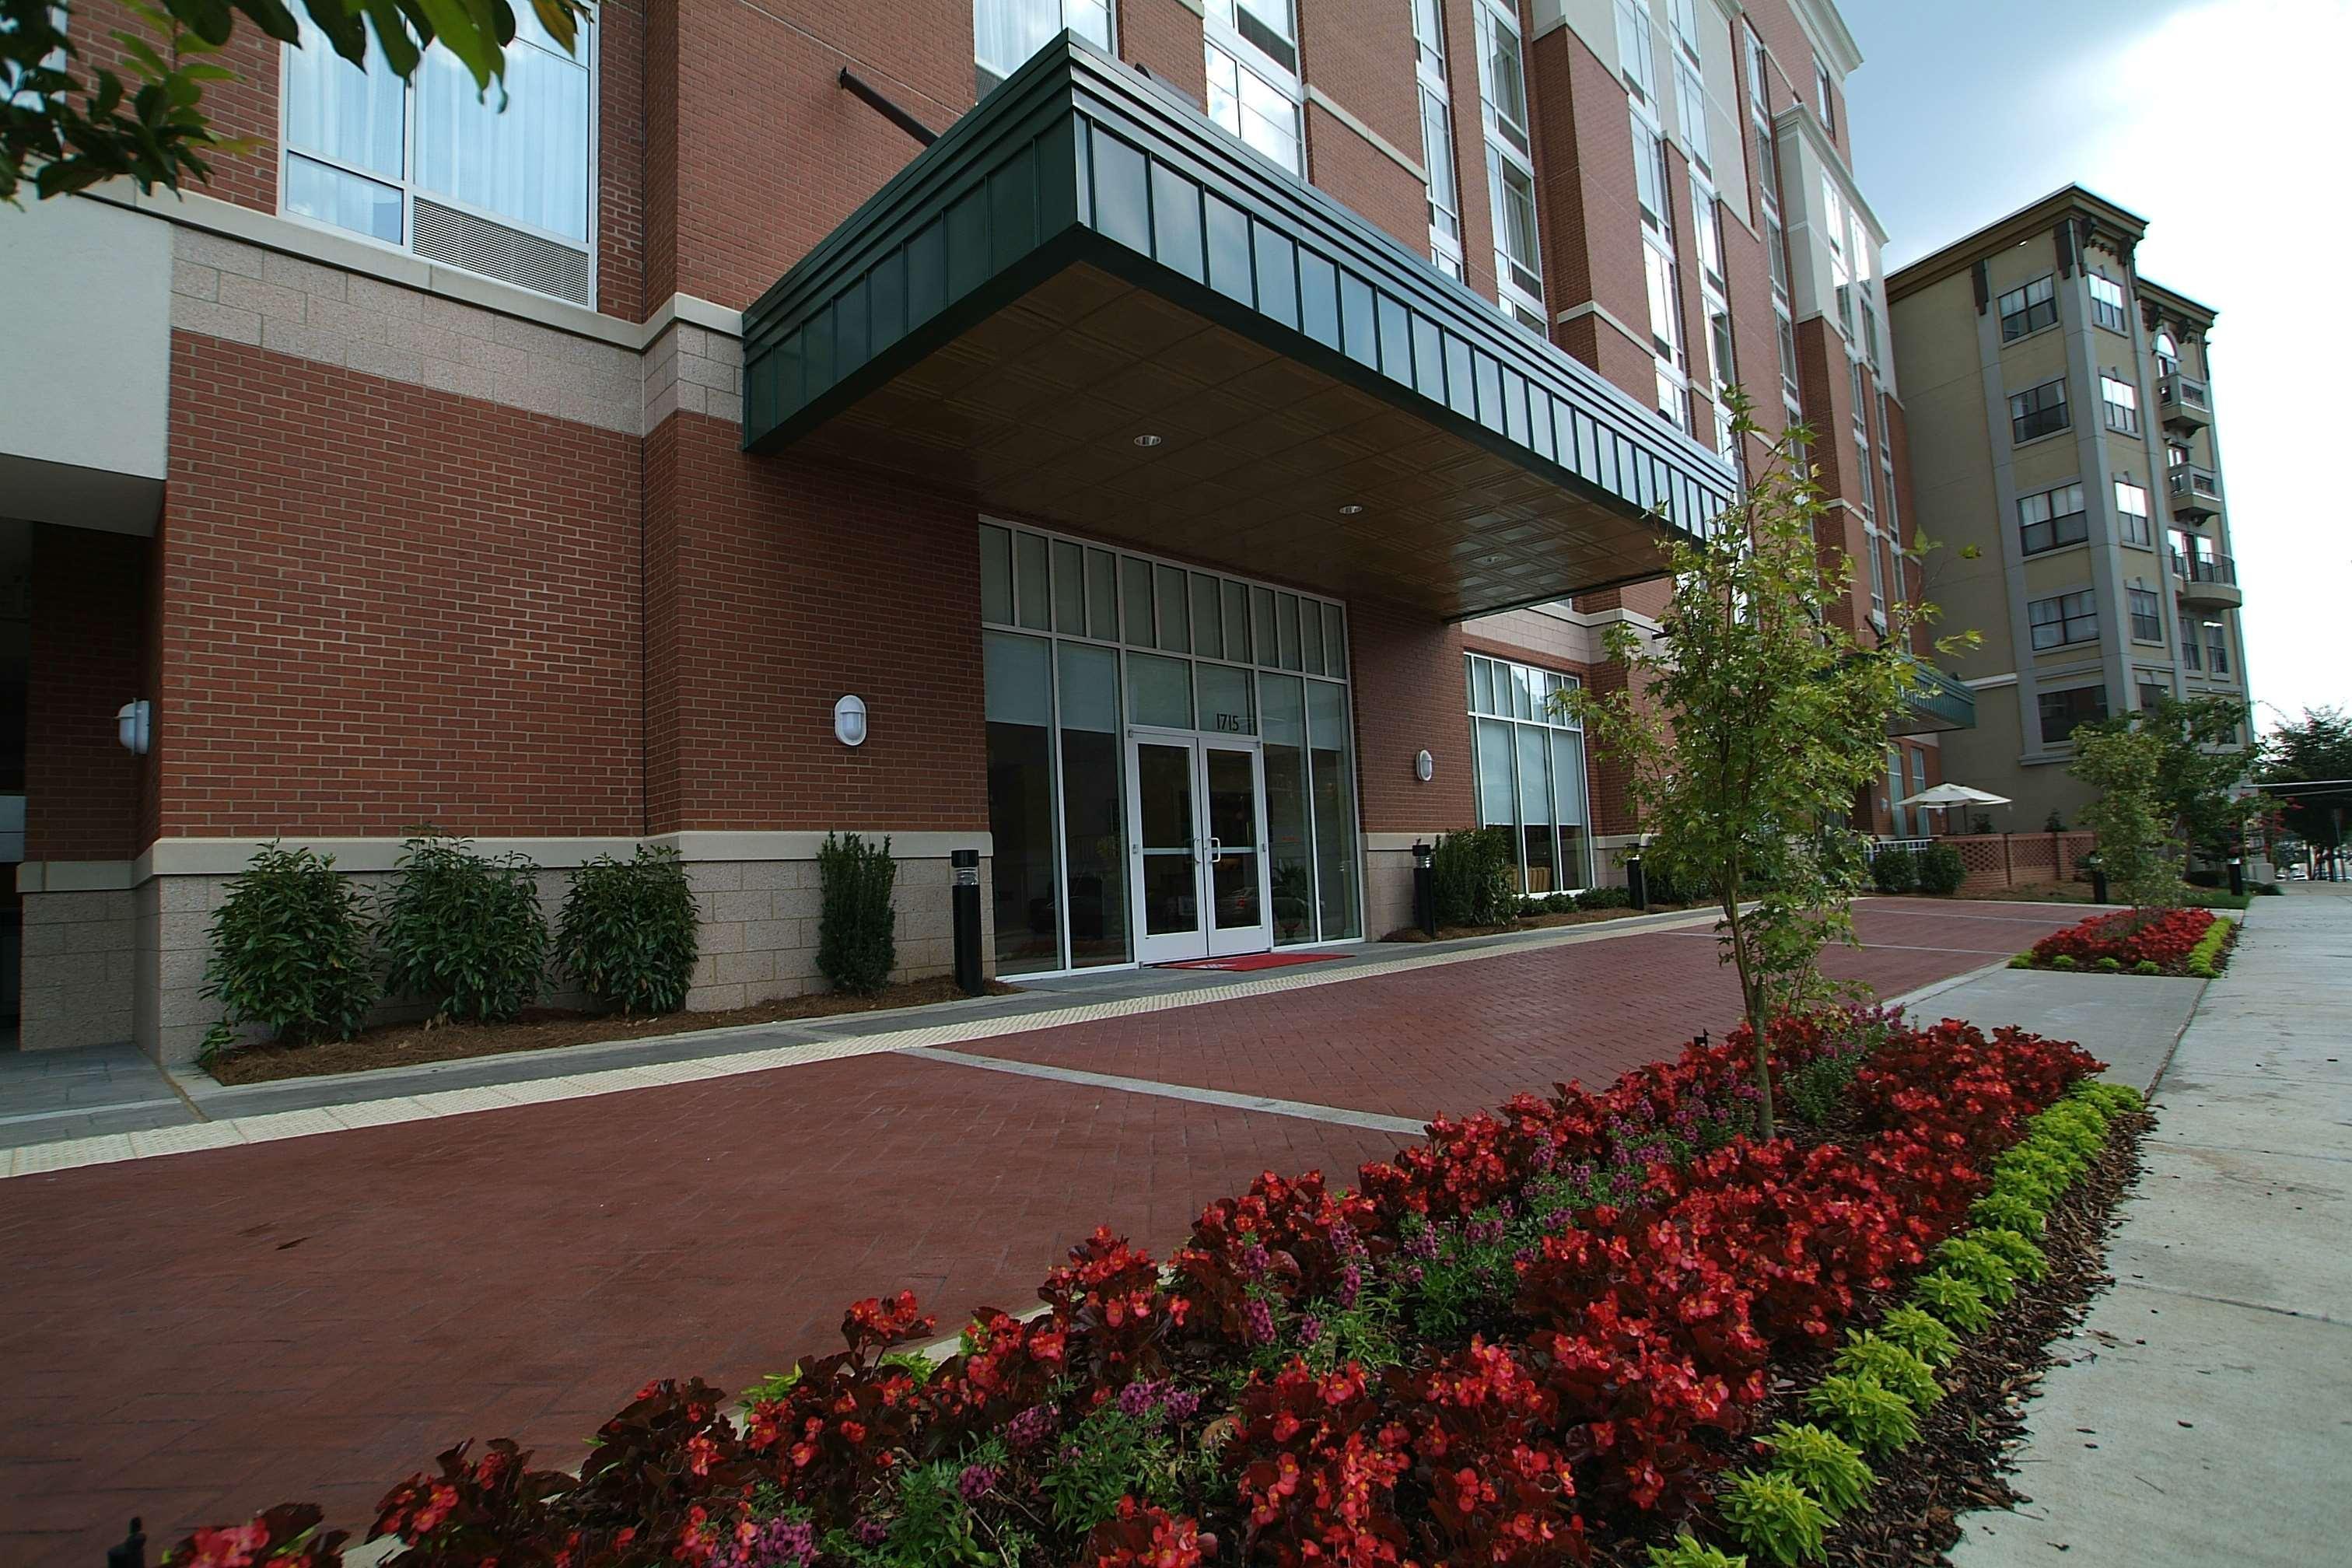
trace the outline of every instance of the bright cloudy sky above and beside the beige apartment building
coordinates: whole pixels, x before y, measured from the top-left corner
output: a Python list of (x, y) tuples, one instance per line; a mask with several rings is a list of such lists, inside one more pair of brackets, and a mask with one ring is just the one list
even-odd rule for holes
[[(2065, 183), (2220, 313), (2213, 430), (2263, 729), (2352, 708), (2352, 0), (1842, 0), (1889, 270)], [(2328, 388), (2336, 390), (2328, 390)]]

